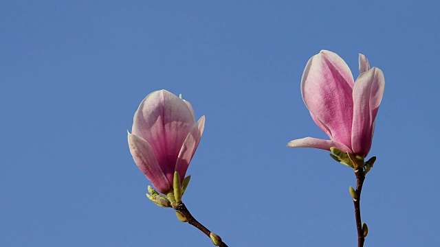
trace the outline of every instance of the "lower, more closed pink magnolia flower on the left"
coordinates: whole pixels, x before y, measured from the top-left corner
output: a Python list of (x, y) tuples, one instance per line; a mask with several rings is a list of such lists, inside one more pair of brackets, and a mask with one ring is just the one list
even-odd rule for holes
[(150, 93), (142, 101), (133, 118), (129, 148), (157, 191), (173, 188), (175, 172), (183, 181), (204, 127), (205, 116), (196, 123), (191, 104), (166, 90)]

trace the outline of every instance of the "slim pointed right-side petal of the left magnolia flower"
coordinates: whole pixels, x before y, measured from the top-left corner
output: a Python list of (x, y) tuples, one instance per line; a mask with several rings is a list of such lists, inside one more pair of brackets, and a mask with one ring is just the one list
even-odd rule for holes
[(175, 170), (179, 173), (182, 182), (184, 181), (183, 178), (185, 177), (186, 170), (190, 165), (192, 156), (194, 156), (195, 150), (197, 150), (197, 146), (200, 143), (204, 128), (205, 116), (202, 116), (199, 121), (197, 121), (197, 124), (195, 124), (195, 126), (188, 133), (184, 144), (181, 146), (179, 156), (177, 157)]

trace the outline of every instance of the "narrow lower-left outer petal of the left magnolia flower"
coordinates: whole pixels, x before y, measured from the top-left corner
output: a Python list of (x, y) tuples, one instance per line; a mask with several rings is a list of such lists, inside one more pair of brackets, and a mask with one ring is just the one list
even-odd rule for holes
[(151, 145), (135, 134), (129, 133), (128, 139), (130, 152), (137, 167), (151, 181), (157, 191), (166, 193), (170, 189), (170, 183), (159, 167)]

